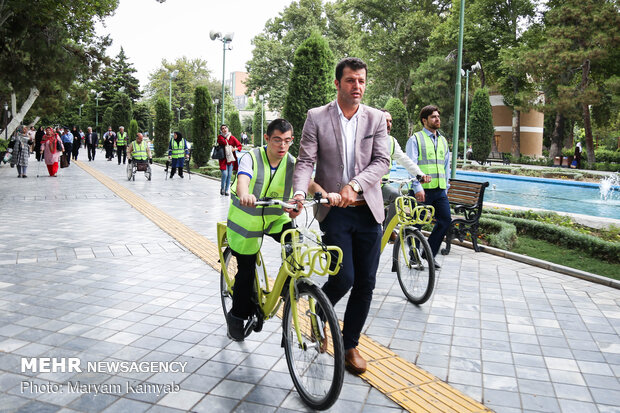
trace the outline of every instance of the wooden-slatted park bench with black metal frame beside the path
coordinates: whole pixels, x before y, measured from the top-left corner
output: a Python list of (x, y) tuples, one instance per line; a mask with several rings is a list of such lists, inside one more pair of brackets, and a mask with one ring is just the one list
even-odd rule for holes
[(478, 247), (478, 221), (482, 215), (484, 189), (487, 186), (489, 186), (488, 182), (450, 179), (448, 201), (454, 210), (454, 215), (446, 233), (446, 247), (441, 250), (443, 255), (450, 253), (450, 245), (454, 238), (462, 242), (467, 234), (471, 236), (474, 251), (480, 251), (480, 247)]

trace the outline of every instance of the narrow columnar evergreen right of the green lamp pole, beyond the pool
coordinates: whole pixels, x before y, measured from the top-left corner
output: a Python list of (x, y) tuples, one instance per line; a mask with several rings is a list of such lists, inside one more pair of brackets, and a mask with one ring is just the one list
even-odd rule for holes
[(480, 88), (474, 93), (474, 99), (469, 109), (469, 125), (467, 136), (471, 139), (473, 158), (484, 163), (491, 153), (491, 139), (495, 134), (493, 128), (493, 114), (489, 92)]

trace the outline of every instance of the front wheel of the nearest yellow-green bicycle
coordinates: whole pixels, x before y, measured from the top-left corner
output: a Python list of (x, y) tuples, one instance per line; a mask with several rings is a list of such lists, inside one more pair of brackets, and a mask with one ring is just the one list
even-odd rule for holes
[(297, 289), (298, 298), (292, 303), (286, 300), (282, 319), (286, 364), (302, 400), (313, 409), (325, 410), (338, 399), (344, 380), (342, 333), (334, 308), (319, 287), (300, 282)]

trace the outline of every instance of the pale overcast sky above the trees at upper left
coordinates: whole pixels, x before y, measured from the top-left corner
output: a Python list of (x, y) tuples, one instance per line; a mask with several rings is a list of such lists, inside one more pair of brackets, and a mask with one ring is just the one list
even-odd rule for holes
[(292, 0), (120, 0), (113, 16), (97, 27), (100, 35), (109, 34), (113, 43), (107, 54), (115, 57), (121, 46), (137, 70), (136, 78), (144, 88), (149, 74), (161, 67), (162, 59), (174, 61), (186, 56), (207, 61), (211, 76), (222, 79), (220, 40), (209, 32), (234, 33), (226, 51), (226, 78), (230, 72), (245, 71), (252, 58), (251, 41), (265, 28), (268, 19), (277, 17)]

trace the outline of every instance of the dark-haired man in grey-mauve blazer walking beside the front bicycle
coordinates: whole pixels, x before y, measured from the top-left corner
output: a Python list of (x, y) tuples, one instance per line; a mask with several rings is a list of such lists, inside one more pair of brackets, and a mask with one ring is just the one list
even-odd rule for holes
[(316, 165), (314, 182), (323, 194), (341, 196), (335, 205), (321, 205), (317, 211), (324, 242), (343, 251), (342, 267), (323, 291), (336, 304), (351, 289), (342, 335), (345, 365), (356, 374), (366, 371), (356, 347), (375, 287), (384, 219), (381, 177), (390, 164), (384, 115), (360, 104), (366, 73), (361, 59), (338, 63), (337, 98), (308, 111), (293, 178), (295, 197), (303, 199)]

